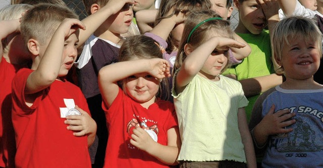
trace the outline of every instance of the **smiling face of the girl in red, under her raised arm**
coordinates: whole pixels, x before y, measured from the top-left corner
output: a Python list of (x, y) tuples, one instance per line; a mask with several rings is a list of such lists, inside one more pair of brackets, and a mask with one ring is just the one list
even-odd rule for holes
[(126, 78), (124, 86), (126, 93), (132, 99), (140, 104), (148, 104), (149, 106), (155, 102), (159, 81), (147, 73), (140, 73)]

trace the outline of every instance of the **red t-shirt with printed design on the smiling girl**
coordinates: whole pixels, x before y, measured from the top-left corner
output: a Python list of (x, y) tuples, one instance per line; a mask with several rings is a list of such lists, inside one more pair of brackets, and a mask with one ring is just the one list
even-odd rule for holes
[[(169, 167), (155, 157), (131, 145), (132, 130), (141, 127), (149, 130), (153, 139), (167, 145), (167, 131), (178, 127), (174, 104), (158, 100), (148, 109), (125, 95), (119, 93), (109, 110), (102, 102), (105, 111), (109, 139), (106, 146), (104, 167)], [(156, 138), (157, 136), (157, 138)]]

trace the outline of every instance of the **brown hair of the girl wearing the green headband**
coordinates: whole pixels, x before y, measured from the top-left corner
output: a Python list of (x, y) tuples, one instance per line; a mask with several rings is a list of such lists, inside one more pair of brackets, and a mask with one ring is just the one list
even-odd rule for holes
[[(176, 72), (176, 70), (178, 70), (182, 66), (184, 60), (187, 57), (184, 51), (184, 46), (187, 42), (188, 35), (192, 31), (192, 29), (206, 19), (219, 18), (219, 17), (220, 16), (216, 12), (211, 10), (191, 13), (188, 16), (187, 20), (185, 21), (182, 42), (176, 56), (173, 74)], [(216, 20), (207, 21), (201, 24), (200, 26), (198, 26), (191, 34), (189, 44), (192, 46), (193, 49), (196, 49), (198, 46), (204, 43), (208, 38), (210, 38), (209, 33), (212, 33), (212, 32), (216, 32), (218, 35), (222, 37), (235, 39), (234, 32), (230, 26), (230, 22), (227, 20), (216, 19)], [(222, 71), (225, 71), (225, 69), (228, 66), (229, 65), (227, 64), (227, 66)]]

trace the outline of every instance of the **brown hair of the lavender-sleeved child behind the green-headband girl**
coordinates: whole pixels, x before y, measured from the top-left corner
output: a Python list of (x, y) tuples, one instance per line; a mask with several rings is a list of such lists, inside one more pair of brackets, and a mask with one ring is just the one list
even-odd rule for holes
[[(170, 18), (173, 15), (178, 15), (183, 12), (185, 15), (201, 10), (208, 10), (211, 8), (211, 3), (208, 0), (162, 0), (160, 8), (156, 15), (154, 25), (157, 25), (162, 19)], [(173, 11), (169, 14), (170, 11)], [(172, 32), (167, 38), (168, 46), (166, 51), (172, 52), (174, 49), (175, 39)]]

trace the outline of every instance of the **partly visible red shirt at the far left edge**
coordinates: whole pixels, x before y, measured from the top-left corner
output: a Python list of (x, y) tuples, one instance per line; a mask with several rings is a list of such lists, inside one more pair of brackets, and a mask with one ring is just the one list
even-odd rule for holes
[(0, 63), (0, 167), (15, 167), (15, 133), (11, 122), (11, 83), (22, 67), (8, 63), (3, 57)]

